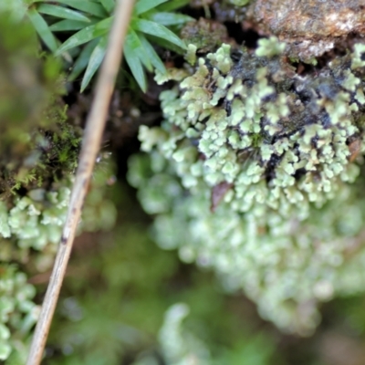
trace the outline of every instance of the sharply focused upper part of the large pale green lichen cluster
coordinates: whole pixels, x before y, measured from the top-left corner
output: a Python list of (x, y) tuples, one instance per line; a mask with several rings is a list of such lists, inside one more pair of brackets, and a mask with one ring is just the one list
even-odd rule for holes
[[(234, 183), (235, 210), (246, 212), (252, 205), (260, 210), (265, 201), (275, 209), (297, 204), (305, 214), (309, 202), (325, 203), (341, 181), (353, 181), (358, 174), (349, 164), (348, 144), (362, 131), (354, 121), (363, 109), (361, 99), (350, 101), (361, 95), (362, 84), (339, 66), (342, 88), (321, 75), (293, 77), (279, 57), (267, 62), (244, 52), (234, 65), (227, 45), (200, 58), (193, 75), (181, 82), (181, 92), (162, 92), (167, 122), (141, 129), (141, 149), (156, 145), (172, 158), (187, 188), (198, 177), (211, 187)], [(253, 183), (262, 186), (262, 193), (251, 197)]]

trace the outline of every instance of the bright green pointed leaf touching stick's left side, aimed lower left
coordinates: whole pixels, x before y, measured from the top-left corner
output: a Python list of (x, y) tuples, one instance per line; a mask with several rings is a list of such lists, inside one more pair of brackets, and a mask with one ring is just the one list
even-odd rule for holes
[(91, 39), (97, 38), (98, 36), (104, 36), (106, 33), (108, 33), (112, 21), (113, 17), (110, 16), (104, 20), (101, 20), (97, 24), (94, 24), (92, 26), (87, 26), (84, 29), (79, 30), (78, 33), (75, 33), (73, 36), (70, 36), (68, 40), (66, 40), (57, 49), (56, 55), (60, 55), (70, 48), (83, 45), (84, 43), (87, 43)]

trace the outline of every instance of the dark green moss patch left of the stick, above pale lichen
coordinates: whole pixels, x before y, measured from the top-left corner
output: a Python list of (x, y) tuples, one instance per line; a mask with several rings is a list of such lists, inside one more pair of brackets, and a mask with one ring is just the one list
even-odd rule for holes
[(19, 191), (47, 189), (73, 172), (80, 130), (66, 121), (59, 62), (38, 54), (32, 26), (7, 13), (0, 17), (0, 196), (4, 200)]

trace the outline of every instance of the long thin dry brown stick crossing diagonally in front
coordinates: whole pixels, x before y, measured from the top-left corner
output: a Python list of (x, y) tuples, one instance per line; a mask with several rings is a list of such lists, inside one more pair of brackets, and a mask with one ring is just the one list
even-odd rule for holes
[(114, 89), (118, 69), (120, 68), (122, 45), (127, 34), (133, 5), (134, 0), (120, 0), (116, 7), (107, 53), (99, 72), (95, 98), (91, 105), (82, 141), (78, 171), (71, 193), (66, 223), (26, 365), (38, 365), (42, 360), (48, 331), (57, 305), (57, 298), (68, 266), (68, 258), (71, 253), (82, 204), (84, 203), (89, 179), (99, 151), (108, 115), (111, 93)]

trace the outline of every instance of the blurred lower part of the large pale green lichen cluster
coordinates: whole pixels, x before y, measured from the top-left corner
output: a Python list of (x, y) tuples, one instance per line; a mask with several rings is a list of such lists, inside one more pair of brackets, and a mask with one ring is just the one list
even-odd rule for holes
[(365, 203), (348, 187), (321, 209), (311, 206), (305, 220), (272, 209), (239, 214), (232, 191), (212, 214), (206, 186), (200, 182), (187, 194), (174, 163), (163, 163), (157, 152), (130, 161), (130, 183), (139, 185), (144, 209), (158, 214), (158, 244), (177, 248), (185, 262), (214, 268), (228, 291), (245, 289), (279, 328), (308, 335), (318, 325), (319, 302), (363, 291)]

